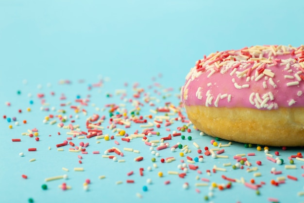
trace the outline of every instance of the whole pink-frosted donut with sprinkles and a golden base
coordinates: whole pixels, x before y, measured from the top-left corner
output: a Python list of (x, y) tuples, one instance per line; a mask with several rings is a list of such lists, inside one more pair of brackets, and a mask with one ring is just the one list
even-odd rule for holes
[(204, 55), (186, 75), (181, 102), (213, 137), (304, 146), (304, 46), (263, 45)]

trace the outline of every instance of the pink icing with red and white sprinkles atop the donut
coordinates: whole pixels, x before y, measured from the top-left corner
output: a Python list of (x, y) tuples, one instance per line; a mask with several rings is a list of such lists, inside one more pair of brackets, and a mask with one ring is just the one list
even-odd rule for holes
[(303, 107), (303, 50), (275, 45), (213, 53), (187, 74), (181, 100), (187, 106)]

